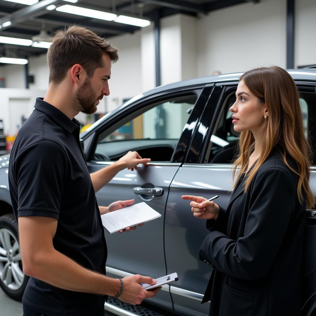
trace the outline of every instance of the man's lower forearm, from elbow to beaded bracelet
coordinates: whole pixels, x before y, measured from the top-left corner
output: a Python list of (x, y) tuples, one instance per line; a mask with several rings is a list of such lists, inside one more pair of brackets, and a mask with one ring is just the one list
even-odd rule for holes
[(26, 274), (61, 289), (115, 296), (121, 282), (97, 272), (88, 270), (53, 249), (35, 256)]

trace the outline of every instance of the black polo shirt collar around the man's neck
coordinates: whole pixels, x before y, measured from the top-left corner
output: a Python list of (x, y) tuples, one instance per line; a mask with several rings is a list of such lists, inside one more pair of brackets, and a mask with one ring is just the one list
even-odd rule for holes
[(69, 119), (67, 115), (58, 110), (57, 107), (52, 106), (48, 102), (44, 101), (43, 98), (36, 98), (35, 109), (40, 110), (49, 115), (54, 121), (60, 126), (64, 127), (66, 131), (72, 133), (77, 126), (80, 127), (80, 122), (73, 118)]

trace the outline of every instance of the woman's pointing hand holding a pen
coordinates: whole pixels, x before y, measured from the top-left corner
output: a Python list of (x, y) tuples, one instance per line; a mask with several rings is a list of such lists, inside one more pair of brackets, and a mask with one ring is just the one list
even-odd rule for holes
[(202, 219), (217, 219), (219, 206), (213, 201), (207, 201), (205, 197), (196, 197), (194, 195), (182, 195), (181, 198), (191, 201), (193, 216)]

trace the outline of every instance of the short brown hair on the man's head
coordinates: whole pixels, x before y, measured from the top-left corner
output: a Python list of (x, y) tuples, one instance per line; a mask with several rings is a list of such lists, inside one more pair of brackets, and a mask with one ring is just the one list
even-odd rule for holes
[(107, 53), (115, 63), (119, 59), (117, 51), (116, 47), (85, 27), (72, 25), (58, 30), (47, 52), (49, 83), (62, 82), (74, 64), (82, 65), (91, 77), (96, 68), (103, 67), (102, 55)]

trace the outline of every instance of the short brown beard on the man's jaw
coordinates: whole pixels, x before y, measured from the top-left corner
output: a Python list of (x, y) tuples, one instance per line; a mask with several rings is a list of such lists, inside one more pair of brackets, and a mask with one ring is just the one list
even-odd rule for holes
[(74, 107), (76, 111), (83, 112), (85, 114), (92, 114), (97, 110), (96, 101), (102, 99), (103, 95), (95, 96), (91, 87), (89, 78), (83, 82), (82, 87), (78, 89), (75, 95)]

